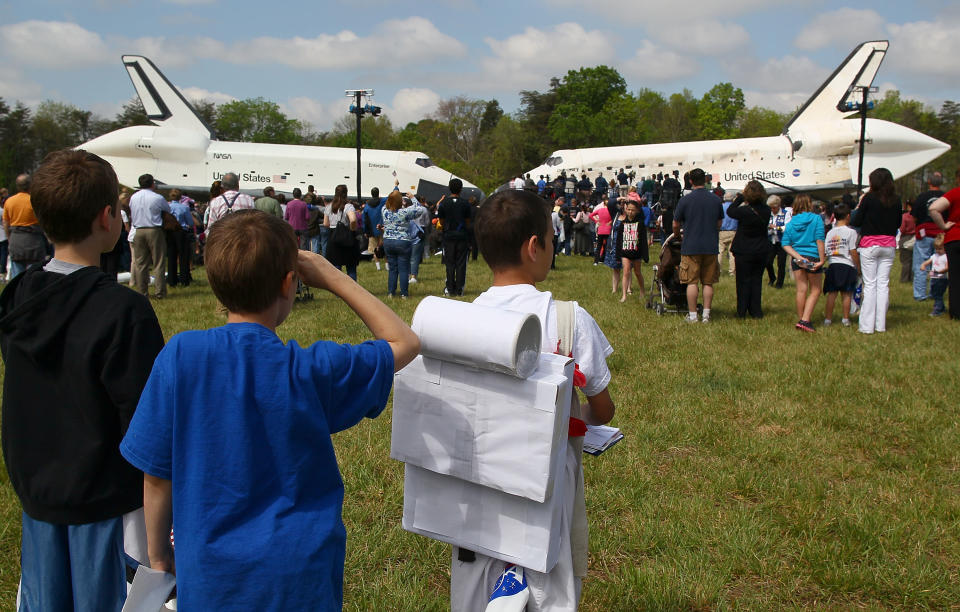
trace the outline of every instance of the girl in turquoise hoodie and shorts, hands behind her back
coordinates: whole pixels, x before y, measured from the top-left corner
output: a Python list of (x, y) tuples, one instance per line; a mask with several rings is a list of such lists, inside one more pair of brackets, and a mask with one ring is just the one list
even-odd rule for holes
[(813, 212), (813, 201), (805, 193), (793, 201), (793, 217), (783, 230), (783, 250), (791, 257), (790, 269), (797, 283), (797, 321), (800, 331), (813, 332), (813, 309), (823, 291), (823, 264), (826, 263), (823, 219)]

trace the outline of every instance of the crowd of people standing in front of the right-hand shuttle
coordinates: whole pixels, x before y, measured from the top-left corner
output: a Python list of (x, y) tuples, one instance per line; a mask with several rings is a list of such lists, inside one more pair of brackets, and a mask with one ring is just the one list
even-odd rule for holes
[[(556, 252), (570, 255), (572, 243), (574, 255), (592, 256), (594, 265), (608, 266), (611, 291), (617, 293), (619, 286), (621, 301), (633, 293), (634, 277), (640, 299), (645, 298), (641, 262), (649, 261), (648, 245), (676, 236), (690, 322), (710, 321), (713, 285), (724, 258), (735, 277), (737, 316), (760, 318), (763, 275), (770, 287), (782, 288), (789, 256), (797, 291), (795, 327), (806, 332), (816, 330), (814, 311), (823, 294), (824, 326), (833, 323), (839, 297), (844, 326), (859, 310), (860, 332), (886, 331), (890, 270), (898, 248), (900, 280), (913, 283), (915, 300), (933, 301), (931, 316), (947, 312), (948, 289), (950, 304), (957, 301), (956, 284), (949, 283), (948, 253), (960, 247), (950, 246), (960, 238), (953, 204), (960, 191), (944, 193), (939, 172), (930, 174), (926, 191), (910, 199), (895, 192), (889, 170), (878, 168), (862, 198), (846, 194), (831, 202), (804, 193), (768, 195), (759, 181), (750, 181), (742, 192), (728, 192), (719, 183), (712, 185), (700, 169), (685, 174), (682, 183), (676, 171), (634, 182), (623, 169), (609, 182), (602, 173), (593, 181), (586, 173), (579, 180), (566, 173), (539, 179), (518, 177), (510, 187), (554, 202)], [(957, 308), (949, 310), (953, 319), (960, 318)]]

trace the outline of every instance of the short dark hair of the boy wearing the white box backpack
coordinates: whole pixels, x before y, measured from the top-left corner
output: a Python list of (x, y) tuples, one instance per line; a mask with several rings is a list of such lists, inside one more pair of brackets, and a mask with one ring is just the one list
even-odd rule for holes
[(520, 248), (536, 236), (541, 246), (550, 228), (550, 204), (535, 193), (505, 189), (480, 205), (474, 235), (491, 270), (519, 266)]

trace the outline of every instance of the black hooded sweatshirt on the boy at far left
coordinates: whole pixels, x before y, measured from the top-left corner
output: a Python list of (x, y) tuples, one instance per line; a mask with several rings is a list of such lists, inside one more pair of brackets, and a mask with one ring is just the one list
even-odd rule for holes
[(143, 505), (120, 455), (163, 333), (147, 299), (98, 268), (33, 266), (0, 294), (3, 458), (34, 519), (82, 524)]

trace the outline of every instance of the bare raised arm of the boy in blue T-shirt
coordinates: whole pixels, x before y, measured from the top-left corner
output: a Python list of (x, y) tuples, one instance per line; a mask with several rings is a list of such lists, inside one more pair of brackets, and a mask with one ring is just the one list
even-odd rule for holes
[(413, 361), (420, 352), (420, 339), (397, 313), (320, 255), (299, 251), (297, 273), (311, 287), (326, 289), (346, 302), (375, 338), (390, 344), (395, 372)]

